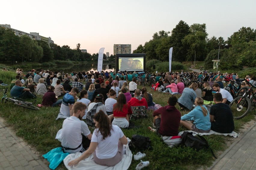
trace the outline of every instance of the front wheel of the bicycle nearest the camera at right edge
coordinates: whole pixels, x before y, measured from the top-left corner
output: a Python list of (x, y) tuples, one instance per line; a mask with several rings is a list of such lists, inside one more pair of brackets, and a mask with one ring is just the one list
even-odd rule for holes
[(229, 107), (233, 113), (234, 119), (241, 119), (245, 117), (251, 108), (251, 101), (247, 97), (237, 97), (230, 104)]

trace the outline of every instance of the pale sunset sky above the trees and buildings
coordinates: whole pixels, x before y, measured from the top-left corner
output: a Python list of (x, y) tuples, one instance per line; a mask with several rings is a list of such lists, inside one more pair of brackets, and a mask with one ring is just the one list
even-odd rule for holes
[(180, 20), (206, 23), (208, 38), (227, 40), (243, 26), (256, 29), (255, 7), (255, 0), (12, 0), (1, 2), (0, 24), (72, 49), (80, 43), (90, 54), (104, 47), (111, 55), (114, 44), (131, 44), (133, 51), (155, 32), (171, 32)]

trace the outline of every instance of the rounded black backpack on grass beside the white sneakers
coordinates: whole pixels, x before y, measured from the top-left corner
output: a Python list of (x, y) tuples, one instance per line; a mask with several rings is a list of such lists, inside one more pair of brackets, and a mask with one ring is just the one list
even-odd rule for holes
[(151, 149), (151, 140), (149, 139), (149, 137), (133, 135), (132, 140), (129, 143), (129, 148), (139, 150)]

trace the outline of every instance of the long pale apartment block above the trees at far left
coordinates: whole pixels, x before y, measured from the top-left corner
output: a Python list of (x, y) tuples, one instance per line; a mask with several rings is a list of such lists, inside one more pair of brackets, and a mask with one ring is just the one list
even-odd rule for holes
[(39, 35), (39, 33), (36, 33), (36, 32), (30, 32), (30, 33), (26, 33), (26, 32), (23, 32), (23, 31), (19, 31), (19, 30), (16, 30), (16, 29), (13, 29), (11, 28), (11, 25), (8, 25), (8, 24), (5, 24), (5, 25), (1, 25), (0, 24), (0, 27), (3, 27), (3, 28), (8, 28), (8, 29), (11, 29), (14, 31), (14, 34), (17, 35), (17, 36), (22, 36), (22, 35), (27, 35), (29, 36), (30, 38), (32, 38), (33, 40), (42, 40), (42, 41), (45, 41), (48, 43), (48, 45), (50, 46), (50, 43), (54, 43), (53, 40), (51, 40), (51, 37), (47, 38), (47, 37), (43, 37), (41, 35)]

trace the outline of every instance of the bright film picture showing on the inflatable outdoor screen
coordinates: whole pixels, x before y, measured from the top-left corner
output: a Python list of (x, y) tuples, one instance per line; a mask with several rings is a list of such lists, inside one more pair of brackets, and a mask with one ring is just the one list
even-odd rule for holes
[(118, 58), (119, 70), (121, 71), (142, 71), (144, 57), (119, 57)]

